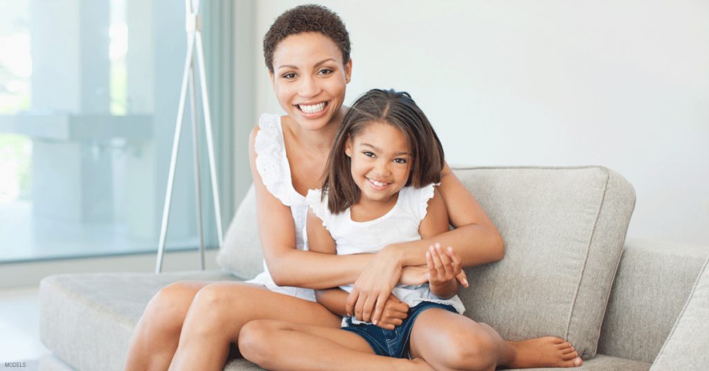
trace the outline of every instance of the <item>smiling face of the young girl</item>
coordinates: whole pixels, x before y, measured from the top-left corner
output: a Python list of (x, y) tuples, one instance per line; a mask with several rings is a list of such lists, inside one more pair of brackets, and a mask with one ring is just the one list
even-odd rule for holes
[(396, 201), (411, 171), (406, 137), (389, 123), (369, 123), (354, 139), (347, 140), (345, 153), (352, 159), (352, 178), (362, 190), (359, 202)]

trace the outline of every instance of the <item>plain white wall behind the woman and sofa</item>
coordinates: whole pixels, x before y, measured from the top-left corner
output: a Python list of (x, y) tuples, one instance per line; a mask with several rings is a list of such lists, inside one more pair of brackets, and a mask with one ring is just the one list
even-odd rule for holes
[[(257, 110), (281, 112), (261, 38)], [(410, 92), (447, 160), (603, 165), (635, 187), (628, 236), (709, 245), (709, 1), (320, 1), (352, 40), (346, 102)]]

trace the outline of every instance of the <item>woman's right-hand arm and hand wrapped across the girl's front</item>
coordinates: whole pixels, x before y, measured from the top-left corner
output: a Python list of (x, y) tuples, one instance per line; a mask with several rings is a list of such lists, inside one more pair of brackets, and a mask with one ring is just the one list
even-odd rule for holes
[(347, 311), (368, 321), (381, 314), (384, 299), (401, 276), (401, 267), (425, 265), (425, 251), (440, 243), (453, 246), (463, 267), (482, 265), (502, 259), (505, 248), (497, 228), (465, 185), (446, 164), (438, 192), (445, 202), (454, 230), (439, 236), (384, 247), (367, 264), (347, 298)]

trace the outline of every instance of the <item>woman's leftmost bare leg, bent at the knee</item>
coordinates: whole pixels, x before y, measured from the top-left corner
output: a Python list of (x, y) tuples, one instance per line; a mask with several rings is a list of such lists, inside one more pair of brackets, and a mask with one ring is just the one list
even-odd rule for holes
[(152, 297), (128, 343), (125, 371), (167, 370), (192, 300), (201, 288), (211, 283), (177, 282)]

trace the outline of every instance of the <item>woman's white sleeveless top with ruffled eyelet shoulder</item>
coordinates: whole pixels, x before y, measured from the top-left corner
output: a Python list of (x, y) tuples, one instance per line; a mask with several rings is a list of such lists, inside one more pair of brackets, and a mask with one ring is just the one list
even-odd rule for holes
[[(254, 150), (256, 152), (256, 170), (273, 196), (284, 205), (290, 206), (296, 225), (296, 247), (308, 250), (305, 240), (308, 200), (293, 187), (291, 167), (286, 156), (286, 143), (283, 136), (281, 116), (264, 113), (259, 119), (259, 132), (256, 134)], [(309, 301), (315, 301), (312, 289), (278, 286), (273, 282), (266, 261), (264, 272), (247, 282), (262, 284), (273, 292), (288, 294)]]

